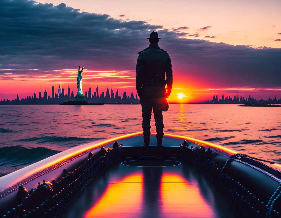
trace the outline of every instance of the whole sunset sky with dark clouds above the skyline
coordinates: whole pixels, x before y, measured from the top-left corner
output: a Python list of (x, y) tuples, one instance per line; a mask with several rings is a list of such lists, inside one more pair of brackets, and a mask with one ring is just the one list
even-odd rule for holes
[[(281, 98), (280, 1), (0, 1), (0, 99), (135, 90), (138, 52), (157, 31), (172, 60), (169, 102), (218, 93)], [(183, 98), (178, 99), (178, 94)], [(225, 94), (224, 94), (225, 95)]]

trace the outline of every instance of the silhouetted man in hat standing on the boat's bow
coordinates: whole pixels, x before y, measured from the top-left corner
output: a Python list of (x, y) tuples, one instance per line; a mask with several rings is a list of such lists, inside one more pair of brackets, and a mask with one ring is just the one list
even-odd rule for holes
[[(163, 115), (162, 111), (168, 110), (166, 98), (169, 98), (173, 85), (172, 62), (169, 54), (159, 48), (158, 34), (150, 34), (149, 47), (139, 52), (136, 66), (136, 88), (142, 106), (142, 128), (144, 149), (147, 150), (150, 139), (151, 110), (156, 126), (157, 146), (162, 150), (163, 140)], [(165, 80), (165, 73), (166, 79)], [(165, 85), (167, 84), (167, 92)]]

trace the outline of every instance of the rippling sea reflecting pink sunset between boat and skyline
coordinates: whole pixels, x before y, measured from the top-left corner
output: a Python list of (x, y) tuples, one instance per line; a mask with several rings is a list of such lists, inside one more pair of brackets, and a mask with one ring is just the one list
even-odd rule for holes
[[(171, 104), (163, 116), (165, 133), (281, 163), (280, 107)], [(0, 105), (0, 176), (77, 145), (140, 132), (141, 122), (140, 105)]]

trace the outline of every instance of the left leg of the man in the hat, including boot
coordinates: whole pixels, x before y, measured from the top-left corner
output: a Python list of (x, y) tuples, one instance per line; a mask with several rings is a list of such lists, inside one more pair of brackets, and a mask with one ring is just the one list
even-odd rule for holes
[(142, 129), (143, 129), (143, 139), (144, 147), (147, 149), (150, 142), (150, 119), (151, 119), (152, 106), (149, 102), (141, 102), (141, 112), (142, 112)]

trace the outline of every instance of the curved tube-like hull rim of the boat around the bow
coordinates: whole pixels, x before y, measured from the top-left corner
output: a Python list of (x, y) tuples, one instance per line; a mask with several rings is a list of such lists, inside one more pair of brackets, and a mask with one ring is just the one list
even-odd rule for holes
[[(183, 140), (187, 141), (186, 146), (180, 146)], [(15, 207), (14, 202), (19, 185), (24, 185), (29, 190), (36, 188), (38, 182), (42, 183), (43, 180), (52, 181), (55, 179), (58, 181), (64, 176), (64, 169), (68, 172), (77, 169), (89, 159), (89, 153), (98, 157), (100, 156), (100, 147), (112, 147), (115, 141), (118, 141), (119, 144), (123, 143), (123, 158), (147, 156), (181, 158), (207, 174), (213, 182), (216, 180), (216, 184), (221, 184), (230, 178), (232, 183), (243, 184), (243, 189), (263, 203), (269, 202), (281, 181), (276, 176), (280, 169), (279, 164), (271, 164), (275, 169), (272, 169), (272, 172), (265, 172), (263, 168), (266, 168), (266, 165), (261, 165), (259, 168), (252, 164), (243, 163), (239, 158), (243, 159), (244, 157), (236, 155), (239, 152), (186, 136), (165, 134), (163, 138), (164, 150), (158, 152), (157, 146), (155, 146), (157, 144), (156, 134), (152, 133), (150, 143), (152, 146), (149, 147), (148, 152), (144, 152), (143, 136), (140, 132), (80, 145), (1, 177), (0, 189), (3, 190), (0, 199), (1, 215)], [(232, 157), (234, 159), (231, 159)]]

